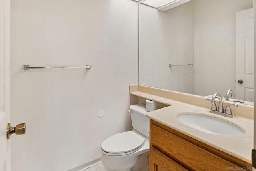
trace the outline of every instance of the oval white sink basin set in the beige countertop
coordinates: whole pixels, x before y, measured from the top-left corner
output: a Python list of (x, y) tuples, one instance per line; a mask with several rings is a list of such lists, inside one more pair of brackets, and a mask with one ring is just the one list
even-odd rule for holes
[(178, 115), (177, 119), (189, 127), (216, 135), (237, 136), (245, 134), (245, 131), (239, 126), (207, 115), (184, 113)]

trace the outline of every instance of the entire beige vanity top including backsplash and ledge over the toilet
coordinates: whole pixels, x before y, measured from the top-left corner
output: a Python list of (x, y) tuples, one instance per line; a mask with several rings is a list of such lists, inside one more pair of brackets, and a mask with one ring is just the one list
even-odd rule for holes
[[(244, 104), (239, 104), (238, 107), (230, 106), (233, 117), (228, 118), (210, 113), (211, 104), (203, 96), (158, 89), (145, 85), (130, 85), (130, 94), (170, 105), (147, 113), (146, 115), (150, 119), (158, 121), (167, 127), (184, 133), (238, 159), (252, 163), (254, 106)], [(223, 104), (225, 109), (226, 101), (223, 101)], [(218, 105), (218, 99), (216, 99), (216, 105)], [(180, 122), (177, 119), (177, 115), (180, 113), (201, 113), (223, 119), (244, 129), (245, 134), (232, 137), (199, 131)]]

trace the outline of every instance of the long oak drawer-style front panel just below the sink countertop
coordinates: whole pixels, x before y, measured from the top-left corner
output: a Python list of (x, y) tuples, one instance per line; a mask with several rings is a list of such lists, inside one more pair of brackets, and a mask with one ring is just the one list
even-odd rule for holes
[(189, 169), (220, 171), (228, 167), (236, 167), (233, 163), (153, 124), (150, 124), (150, 141), (153, 147), (162, 149)]

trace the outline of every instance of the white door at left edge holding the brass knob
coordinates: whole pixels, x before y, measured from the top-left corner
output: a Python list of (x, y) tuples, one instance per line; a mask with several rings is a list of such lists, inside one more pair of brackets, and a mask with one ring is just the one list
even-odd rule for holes
[(0, 171), (10, 171), (10, 0), (0, 0)]

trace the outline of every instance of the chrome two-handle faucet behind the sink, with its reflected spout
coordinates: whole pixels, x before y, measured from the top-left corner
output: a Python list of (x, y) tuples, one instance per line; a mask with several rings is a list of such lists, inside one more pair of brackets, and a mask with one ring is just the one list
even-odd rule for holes
[[(229, 97), (230, 92), (233, 94), (233, 91), (231, 89), (229, 89), (228, 93), (227, 93), (227, 97)], [(217, 96), (219, 97), (219, 108), (218, 108), (218, 110), (217, 110), (217, 106), (216, 106), (216, 103), (215, 103), (215, 98)], [(233, 115), (231, 113), (230, 105), (234, 105), (236, 107), (238, 106), (238, 104), (227, 103), (225, 112), (223, 112), (222, 97), (221, 97), (221, 95), (219, 93), (215, 93), (212, 96), (212, 99), (207, 98), (206, 100), (210, 100), (211, 101), (211, 104), (212, 104), (211, 111), (210, 111), (211, 113), (214, 113), (214, 114), (217, 114), (217, 115), (226, 116), (226, 117), (233, 117)]]

